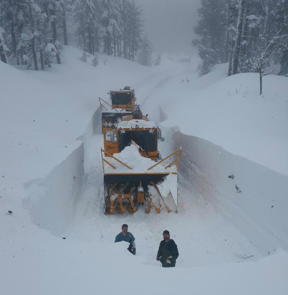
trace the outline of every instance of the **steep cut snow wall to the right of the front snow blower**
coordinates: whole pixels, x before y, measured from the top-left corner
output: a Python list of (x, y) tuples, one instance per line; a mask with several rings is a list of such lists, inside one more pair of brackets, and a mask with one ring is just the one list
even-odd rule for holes
[(288, 177), (212, 142), (170, 132), (174, 149), (183, 147), (178, 178), (181, 198), (185, 195), (181, 188), (191, 192), (185, 196), (188, 203), (189, 197), (203, 196), (264, 255), (277, 248), (287, 251)]

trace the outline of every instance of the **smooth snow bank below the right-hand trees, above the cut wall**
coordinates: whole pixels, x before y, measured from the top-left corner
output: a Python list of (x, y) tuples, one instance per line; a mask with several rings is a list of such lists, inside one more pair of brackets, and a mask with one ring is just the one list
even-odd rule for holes
[[(220, 75), (222, 67), (214, 71)], [(262, 96), (258, 80), (257, 73), (243, 73), (200, 90), (193, 83), (168, 86), (158, 93), (168, 116), (163, 125), (288, 175), (288, 78), (264, 77)]]

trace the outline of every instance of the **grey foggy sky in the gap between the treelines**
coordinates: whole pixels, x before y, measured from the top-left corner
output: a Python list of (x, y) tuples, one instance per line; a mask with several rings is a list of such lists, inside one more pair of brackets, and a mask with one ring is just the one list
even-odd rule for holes
[[(201, 0), (135, 0), (141, 4), (143, 30), (156, 53), (185, 53), (193, 50), (193, 26)], [(144, 33), (145, 33), (144, 32)]]

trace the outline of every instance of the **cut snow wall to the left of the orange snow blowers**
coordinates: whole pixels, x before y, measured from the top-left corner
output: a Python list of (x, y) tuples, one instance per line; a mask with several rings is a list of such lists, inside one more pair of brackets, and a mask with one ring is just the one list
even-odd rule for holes
[[(65, 160), (57, 165), (45, 178), (34, 179), (25, 184), (27, 198), (23, 200), (34, 224), (61, 236), (73, 222), (77, 205), (83, 192), (85, 175), (85, 141), (95, 132), (101, 132), (100, 107), (93, 114), (83, 142)], [(100, 128), (100, 131), (99, 131)]]

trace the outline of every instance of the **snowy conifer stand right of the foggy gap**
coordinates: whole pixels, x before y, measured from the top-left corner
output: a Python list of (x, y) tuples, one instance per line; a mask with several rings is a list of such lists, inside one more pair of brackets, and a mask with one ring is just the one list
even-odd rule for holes
[(229, 62), (228, 75), (288, 75), (288, 0), (202, 0), (194, 28), (199, 75)]

